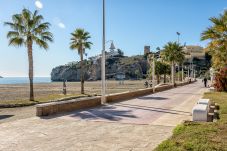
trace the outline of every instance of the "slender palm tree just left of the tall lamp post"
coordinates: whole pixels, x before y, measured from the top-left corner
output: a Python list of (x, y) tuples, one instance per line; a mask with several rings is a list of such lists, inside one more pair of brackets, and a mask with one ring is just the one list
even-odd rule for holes
[(90, 33), (86, 32), (84, 29), (78, 28), (73, 33), (71, 33), (71, 43), (70, 48), (72, 50), (77, 49), (80, 55), (80, 81), (81, 81), (81, 94), (84, 94), (84, 71), (83, 71), (83, 55), (85, 49), (90, 49), (92, 43), (88, 40), (91, 38)]

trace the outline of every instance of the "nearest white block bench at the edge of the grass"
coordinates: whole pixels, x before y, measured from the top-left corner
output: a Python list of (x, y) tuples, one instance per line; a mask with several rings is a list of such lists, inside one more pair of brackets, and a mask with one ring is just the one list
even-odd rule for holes
[(208, 105), (196, 104), (192, 109), (193, 121), (207, 121), (208, 117)]

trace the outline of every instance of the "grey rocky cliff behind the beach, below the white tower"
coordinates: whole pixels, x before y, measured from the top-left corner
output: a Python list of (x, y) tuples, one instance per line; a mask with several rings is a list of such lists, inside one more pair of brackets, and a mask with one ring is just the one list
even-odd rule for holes
[[(109, 57), (106, 60), (106, 78), (115, 79), (124, 73), (126, 79), (144, 78), (149, 65), (143, 56)], [(80, 62), (55, 67), (51, 72), (52, 81), (80, 81)], [(85, 80), (101, 79), (101, 59), (84, 61)]]

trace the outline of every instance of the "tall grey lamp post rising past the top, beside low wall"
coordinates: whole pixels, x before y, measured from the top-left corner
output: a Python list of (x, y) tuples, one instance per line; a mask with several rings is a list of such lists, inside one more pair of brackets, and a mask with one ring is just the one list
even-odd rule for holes
[(102, 37), (102, 104), (106, 103), (106, 73), (105, 73), (105, 0), (103, 0), (103, 37)]

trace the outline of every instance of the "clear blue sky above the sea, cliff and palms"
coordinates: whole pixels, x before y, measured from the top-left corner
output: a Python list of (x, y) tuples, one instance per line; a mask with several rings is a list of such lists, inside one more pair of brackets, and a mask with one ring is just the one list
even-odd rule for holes
[[(8, 46), (8, 27), (3, 22), (23, 8), (34, 11), (35, 0), (0, 1), (0, 75), (27, 76), (26, 48)], [(91, 34), (93, 46), (88, 57), (102, 48), (102, 0), (40, 0), (40, 14), (52, 24), (54, 43), (48, 51), (34, 47), (35, 76), (50, 76), (53, 67), (78, 61), (79, 55), (69, 49), (70, 33), (84, 28)], [(40, 5), (38, 3), (38, 5)], [(37, 6), (38, 6), (37, 5)], [(40, 7), (40, 6), (39, 6)], [(227, 0), (106, 0), (106, 40), (114, 40), (125, 55), (143, 53), (144, 45), (151, 49), (168, 41), (205, 46), (200, 33), (210, 26), (208, 20), (227, 8)], [(107, 48), (109, 44), (107, 45)]]

